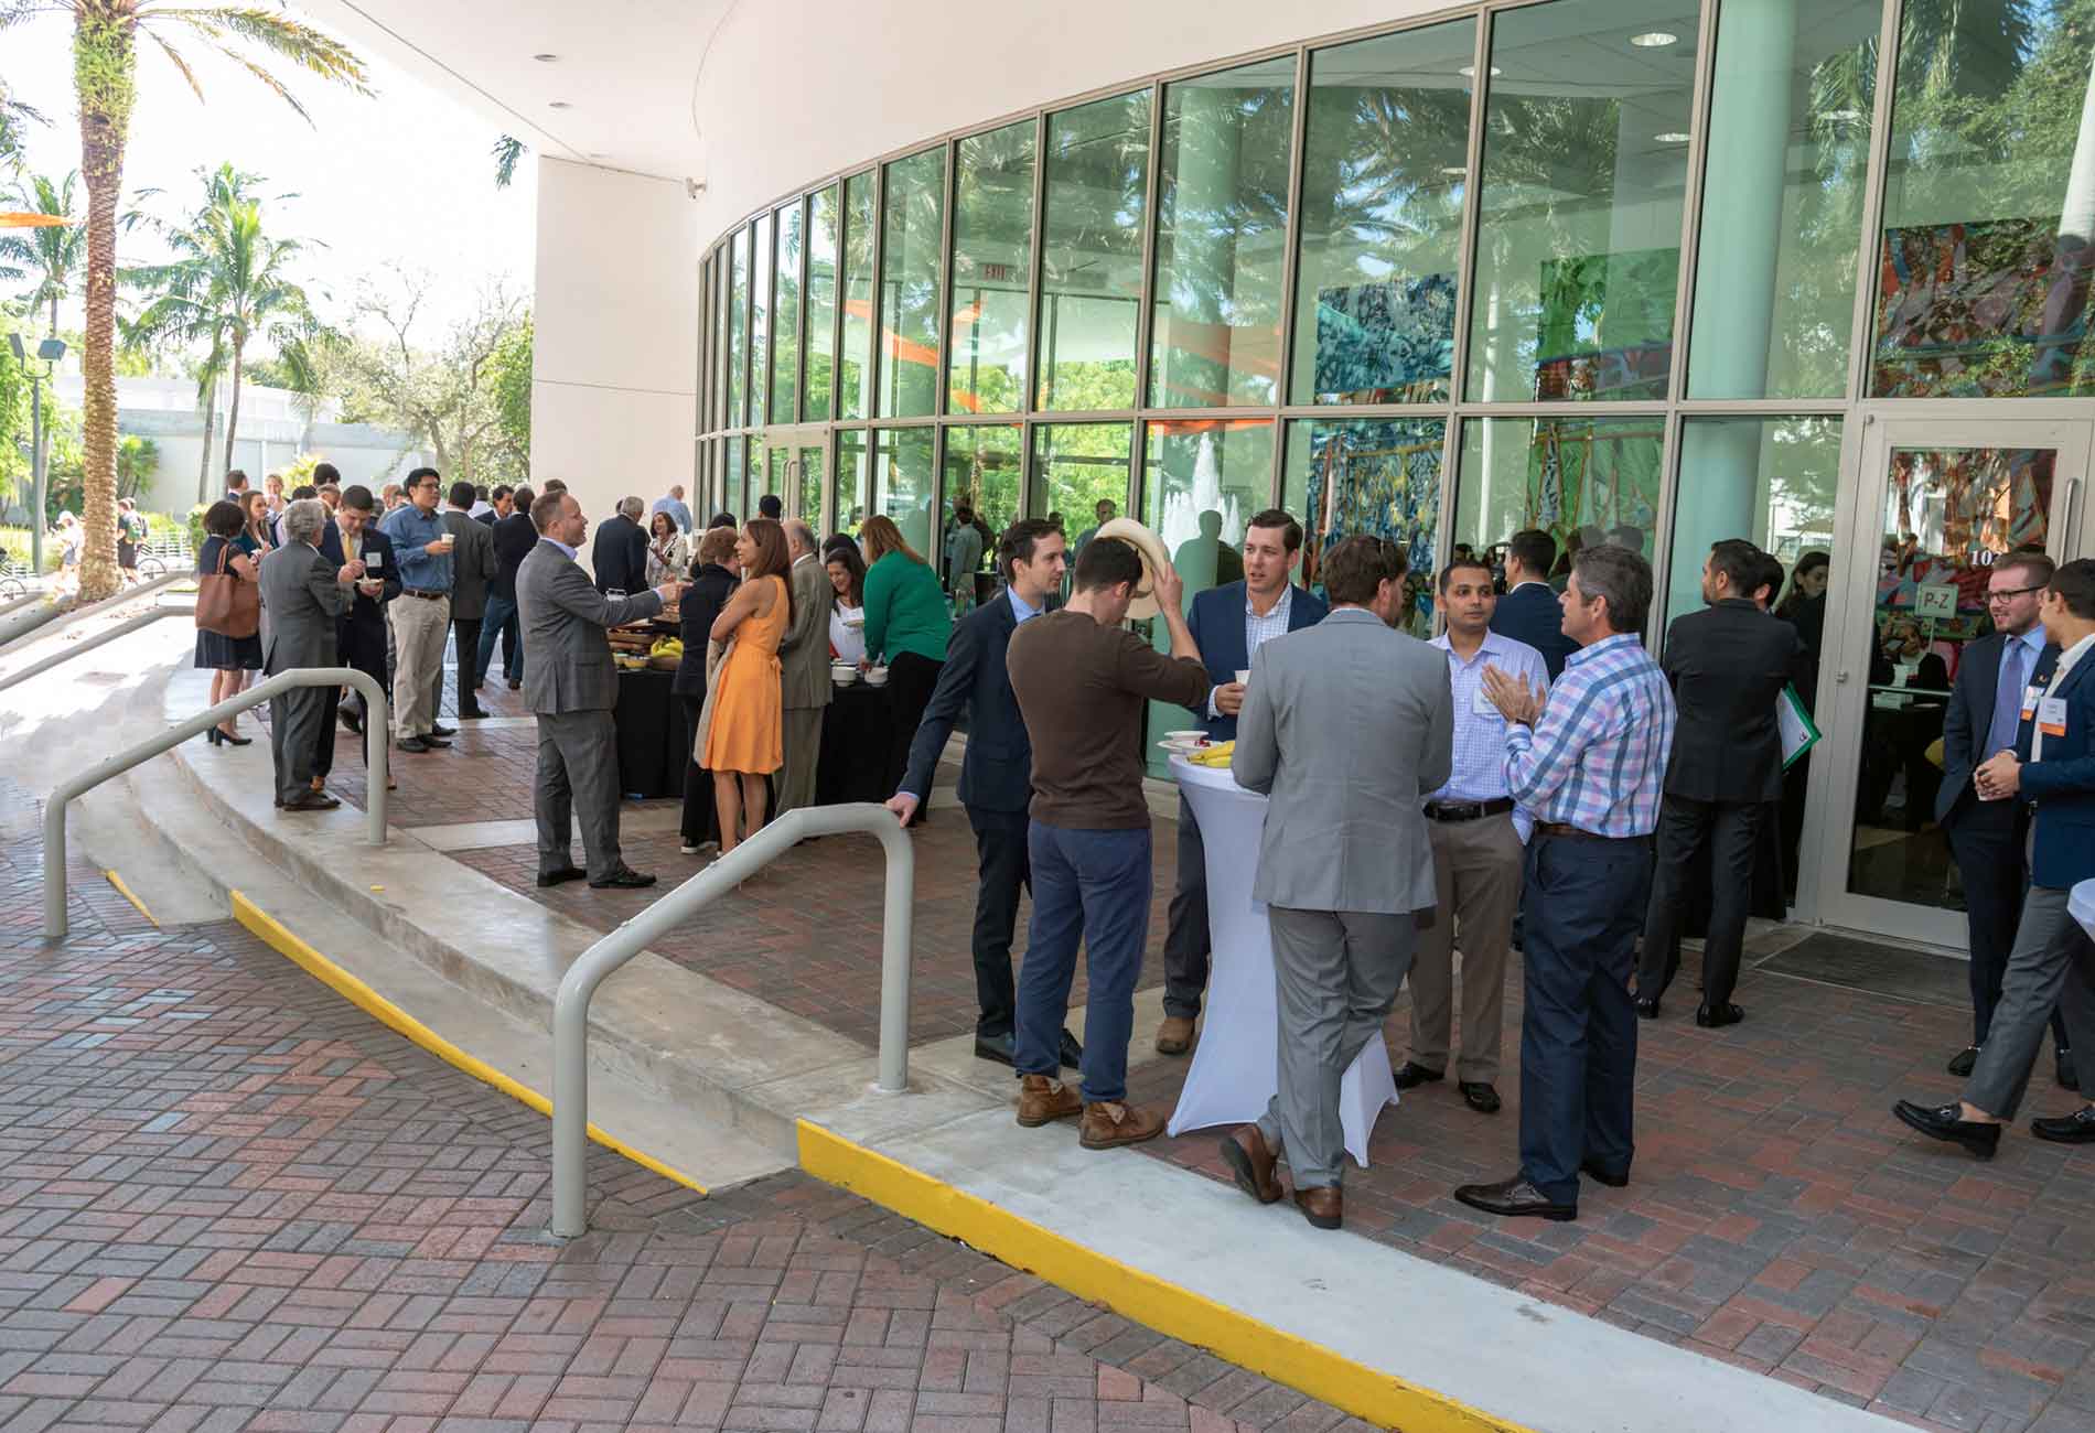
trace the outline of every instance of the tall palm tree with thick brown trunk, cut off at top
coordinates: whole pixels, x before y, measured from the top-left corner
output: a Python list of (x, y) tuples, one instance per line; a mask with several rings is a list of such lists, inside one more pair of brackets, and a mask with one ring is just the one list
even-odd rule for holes
[(153, 42), (203, 98), (203, 86), (170, 36), (201, 40), (291, 105), (306, 109), (249, 50), (369, 94), (369, 71), (346, 44), (289, 15), (243, 6), (186, 6), (176, 0), (0, 0), (0, 31), (42, 13), (73, 19), (73, 90), (80, 101), (80, 174), (88, 186), (86, 341), (82, 344), (82, 448), (86, 553), (80, 595), (109, 597), (117, 572), (117, 199), (124, 142), (138, 98), (138, 44)]

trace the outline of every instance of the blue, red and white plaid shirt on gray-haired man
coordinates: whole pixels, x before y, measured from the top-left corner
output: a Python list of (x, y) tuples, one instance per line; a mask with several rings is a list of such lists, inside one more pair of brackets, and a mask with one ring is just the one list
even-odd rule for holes
[(1506, 788), (1538, 821), (1649, 836), (1674, 750), (1674, 691), (1634, 633), (1565, 660), (1536, 729), (1506, 731)]

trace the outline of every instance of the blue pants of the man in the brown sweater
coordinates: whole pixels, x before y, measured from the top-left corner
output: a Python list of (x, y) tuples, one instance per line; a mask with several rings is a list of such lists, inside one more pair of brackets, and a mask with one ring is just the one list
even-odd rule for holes
[(1127, 1039), (1150, 934), (1150, 828), (1079, 832), (1035, 821), (1033, 924), (1018, 970), (1018, 1073), (1056, 1079), (1062, 1020), (1085, 947), (1083, 1100), (1127, 1098)]

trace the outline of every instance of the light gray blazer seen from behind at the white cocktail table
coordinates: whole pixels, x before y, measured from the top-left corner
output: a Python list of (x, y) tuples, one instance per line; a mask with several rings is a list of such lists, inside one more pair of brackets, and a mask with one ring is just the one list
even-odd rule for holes
[(1265, 792), (1251, 897), (1303, 911), (1433, 907), (1420, 802), (1454, 767), (1448, 658), (1360, 608), (1263, 643), (1230, 773)]

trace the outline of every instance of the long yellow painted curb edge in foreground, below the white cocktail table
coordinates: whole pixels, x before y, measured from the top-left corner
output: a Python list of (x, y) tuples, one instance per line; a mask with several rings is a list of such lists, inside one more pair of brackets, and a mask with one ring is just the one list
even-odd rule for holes
[(817, 1180), (861, 1194), (939, 1234), (960, 1238), (1016, 1270), (1037, 1274), (1079, 1299), (1104, 1303), (1138, 1324), (1211, 1349), (1217, 1358), (1343, 1408), (1355, 1418), (1402, 1427), (1404, 1433), (1529, 1433), (1517, 1423), (1368, 1368), (1146, 1270), (1110, 1259), (804, 1119), (800, 1167)]

